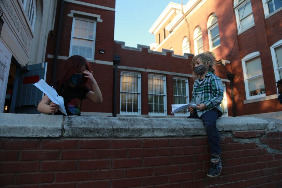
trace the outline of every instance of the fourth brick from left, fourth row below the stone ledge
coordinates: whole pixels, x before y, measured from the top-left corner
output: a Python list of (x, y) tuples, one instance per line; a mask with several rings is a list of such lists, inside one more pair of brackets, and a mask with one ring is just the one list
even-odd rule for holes
[(91, 179), (116, 179), (123, 177), (123, 170), (95, 170), (92, 171)]

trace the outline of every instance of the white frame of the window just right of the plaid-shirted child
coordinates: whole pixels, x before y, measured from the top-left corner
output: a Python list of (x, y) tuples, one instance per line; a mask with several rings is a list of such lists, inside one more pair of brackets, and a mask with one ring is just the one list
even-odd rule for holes
[[(252, 76), (250, 78), (247, 77), (247, 68), (246, 68), (246, 61), (249, 61), (251, 59), (254, 59), (255, 57), (260, 56), (259, 51), (255, 51), (252, 52), (251, 54), (246, 55), (243, 59), (242, 59), (242, 66), (243, 66), (243, 74), (244, 74), (244, 81), (245, 81), (245, 91), (246, 91), (246, 100), (249, 99), (257, 99), (257, 98), (261, 98), (261, 97), (265, 97), (266, 94), (260, 94), (260, 95), (255, 95), (255, 96), (250, 96), (250, 90), (249, 90), (249, 83), (248, 83), (248, 79), (250, 78), (254, 78), (257, 76), (261, 76), (263, 74), (258, 74), (255, 76)], [(264, 84), (265, 85), (265, 84)]]

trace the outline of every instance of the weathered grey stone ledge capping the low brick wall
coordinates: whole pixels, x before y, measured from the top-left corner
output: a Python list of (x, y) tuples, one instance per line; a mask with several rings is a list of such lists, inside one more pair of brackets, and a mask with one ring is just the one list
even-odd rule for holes
[[(0, 137), (175, 137), (206, 135), (200, 119), (0, 114)], [(220, 132), (281, 129), (282, 121), (221, 117)]]

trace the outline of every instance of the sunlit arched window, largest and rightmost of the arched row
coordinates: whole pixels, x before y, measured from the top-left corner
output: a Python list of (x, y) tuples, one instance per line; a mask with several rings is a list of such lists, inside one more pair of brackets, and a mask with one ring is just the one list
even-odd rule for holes
[(217, 22), (217, 16), (215, 13), (209, 16), (207, 29), (208, 29), (208, 35), (209, 35), (209, 49), (211, 50), (211, 49), (214, 49), (220, 46), (218, 22)]

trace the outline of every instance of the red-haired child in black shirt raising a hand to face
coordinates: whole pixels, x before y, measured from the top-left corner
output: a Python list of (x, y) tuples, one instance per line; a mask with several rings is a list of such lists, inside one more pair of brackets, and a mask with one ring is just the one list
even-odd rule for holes
[[(86, 87), (90, 81), (93, 91)], [(95, 103), (102, 103), (102, 94), (96, 80), (93, 77), (88, 61), (82, 56), (71, 56), (67, 59), (61, 77), (54, 84), (58, 94), (64, 98), (67, 115), (80, 116), (82, 99), (89, 99)], [(37, 110), (45, 114), (65, 115), (58, 111), (59, 106), (45, 95), (38, 104)]]

